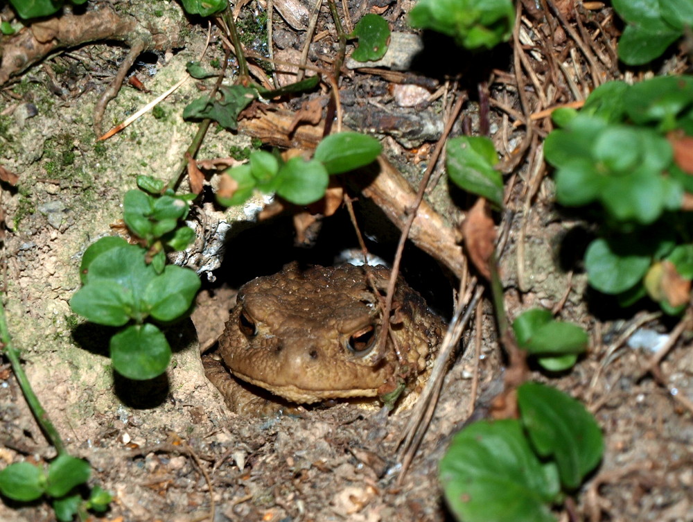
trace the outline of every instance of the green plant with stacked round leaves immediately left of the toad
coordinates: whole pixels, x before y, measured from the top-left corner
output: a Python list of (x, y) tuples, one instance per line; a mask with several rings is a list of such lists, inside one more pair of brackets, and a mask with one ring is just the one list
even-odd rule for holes
[(163, 373), (171, 357), (164, 333), (150, 321), (168, 324), (188, 313), (200, 279), (193, 270), (165, 264), (166, 247), (183, 250), (194, 238), (191, 228), (178, 224), (194, 195), (174, 195), (147, 176), (137, 182), (143, 191), (125, 194), (123, 217), (140, 244), (109, 236), (87, 248), (82, 288), (70, 306), (96, 324), (124, 327), (110, 340), (113, 366), (129, 379), (142, 380)]

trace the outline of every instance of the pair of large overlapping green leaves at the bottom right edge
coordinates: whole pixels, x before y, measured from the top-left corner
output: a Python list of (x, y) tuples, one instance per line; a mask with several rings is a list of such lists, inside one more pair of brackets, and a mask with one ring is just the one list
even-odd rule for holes
[(602, 459), (599, 426), (584, 406), (538, 383), (518, 388), (519, 419), (478, 421), (440, 462), (450, 510), (465, 522), (550, 522), (550, 507)]

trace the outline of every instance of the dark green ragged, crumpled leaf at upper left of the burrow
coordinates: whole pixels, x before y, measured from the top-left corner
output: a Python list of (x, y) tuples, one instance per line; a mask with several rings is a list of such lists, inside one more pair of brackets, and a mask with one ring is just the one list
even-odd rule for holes
[(238, 114), (257, 97), (257, 91), (254, 87), (243, 85), (222, 85), (219, 92), (221, 99), (210, 101), (209, 96), (202, 96), (187, 105), (183, 110), (183, 119), (209, 118), (225, 129), (236, 130)]

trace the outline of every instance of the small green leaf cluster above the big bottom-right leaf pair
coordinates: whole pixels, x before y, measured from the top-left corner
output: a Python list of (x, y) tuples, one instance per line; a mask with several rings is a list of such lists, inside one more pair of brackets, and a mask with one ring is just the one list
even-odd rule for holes
[(537, 363), (551, 372), (562, 372), (587, 349), (587, 333), (569, 322), (553, 319), (551, 312), (533, 308), (513, 322), (518, 346), (535, 356)]

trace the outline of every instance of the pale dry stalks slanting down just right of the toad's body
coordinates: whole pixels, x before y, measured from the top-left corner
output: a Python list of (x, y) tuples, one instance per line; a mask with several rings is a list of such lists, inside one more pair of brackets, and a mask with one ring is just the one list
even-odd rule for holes
[[(471, 293), (475, 288), (474, 295), (470, 299)], [(435, 407), (438, 403), (440, 390), (443, 386), (444, 372), (450, 362), (450, 356), (455, 352), (455, 348), (459, 343), (459, 338), (462, 337), (462, 332), (466, 329), (467, 323), (472, 313), (477, 308), (477, 304), (480, 302), (483, 293), (484, 287), (477, 285), (476, 280), (472, 279), (464, 297), (459, 299), (457, 303), (455, 315), (453, 315), (453, 319), (448, 326), (448, 331), (446, 331), (443, 342), (441, 343), (441, 351), (436, 358), (435, 366), (428, 378), (428, 383), (426, 383), (426, 389), (423, 390), (421, 397), (416, 401), (416, 406), (414, 406), (412, 415), (399, 440), (399, 443), (402, 444), (402, 457), (401, 470), (397, 477), (397, 485), (402, 484), (407, 474), (407, 469), (409, 469), (412, 460), (414, 460), (416, 450), (419, 448), (423, 436), (426, 435), (426, 428), (428, 428), (428, 424), (433, 417), (433, 412), (435, 412)], [(462, 295), (462, 286), (460, 286), (459, 295)], [(465, 311), (464, 316), (462, 316), (463, 310)]]

